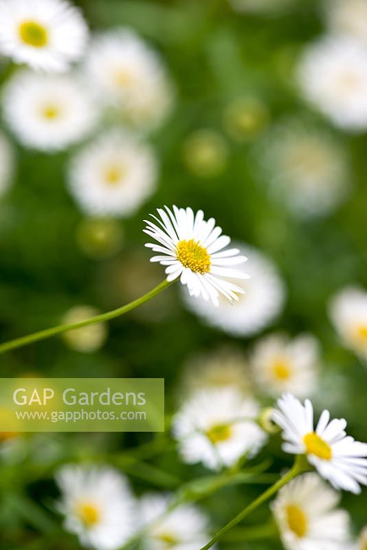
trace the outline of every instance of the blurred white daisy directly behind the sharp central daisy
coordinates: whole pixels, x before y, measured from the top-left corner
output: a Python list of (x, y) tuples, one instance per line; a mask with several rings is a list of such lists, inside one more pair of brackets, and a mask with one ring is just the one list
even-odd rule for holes
[(276, 267), (261, 252), (248, 245), (238, 244), (238, 250), (249, 261), (246, 271), (250, 278), (241, 283), (245, 294), (238, 296), (238, 304), (232, 307), (221, 298), (214, 308), (205, 300), (194, 300), (184, 295), (186, 305), (208, 325), (219, 327), (233, 336), (256, 334), (278, 316), (285, 300), (285, 287)]

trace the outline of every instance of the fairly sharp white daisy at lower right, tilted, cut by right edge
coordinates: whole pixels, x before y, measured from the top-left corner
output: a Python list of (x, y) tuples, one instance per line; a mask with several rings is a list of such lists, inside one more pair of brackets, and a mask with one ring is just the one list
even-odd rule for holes
[(283, 430), (283, 450), (306, 454), (333, 487), (359, 494), (359, 484), (367, 485), (367, 443), (346, 436), (346, 420), (330, 421), (329, 410), (324, 410), (314, 430), (311, 401), (306, 399), (302, 405), (291, 393), (278, 399), (273, 420)]

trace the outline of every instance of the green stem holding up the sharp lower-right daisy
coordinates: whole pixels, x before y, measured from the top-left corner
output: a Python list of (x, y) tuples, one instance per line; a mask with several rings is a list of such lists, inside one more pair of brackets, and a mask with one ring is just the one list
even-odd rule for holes
[(243, 511), (241, 511), (238, 516), (233, 518), (230, 522), (227, 523), (214, 537), (212, 540), (210, 540), (205, 546), (203, 546), (200, 550), (208, 550), (213, 546), (213, 544), (216, 543), (217, 540), (223, 537), (224, 533), (232, 529), (232, 527), (235, 527), (240, 521), (242, 521), (244, 518), (246, 518), (249, 514), (251, 514), (252, 511), (254, 511), (256, 508), (258, 508), (261, 504), (265, 503), (271, 496), (276, 494), (279, 489), (284, 487), (284, 485), (287, 485), (289, 481), (291, 481), (296, 476), (302, 474), (302, 472), (306, 472), (309, 469), (309, 465), (304, 462), (304, 456), (298, 456), (295, 463), (293, 464), (293, 467), (285, 476), (280, 478), (279, 481), (274, 483), (274, 485), (271, 485), (269, 489), (267, 489), (263, 494), (260, 494), (258, 498), (256, 498), (252, 503), (250, 503)]

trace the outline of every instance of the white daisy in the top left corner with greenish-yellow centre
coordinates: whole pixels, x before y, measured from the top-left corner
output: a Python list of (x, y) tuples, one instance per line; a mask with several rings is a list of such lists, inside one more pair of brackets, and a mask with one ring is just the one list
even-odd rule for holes
[(66, 71), (85, 51), (88, 28), (65, 0), (1, 0), (0, 53), (45, 72)]

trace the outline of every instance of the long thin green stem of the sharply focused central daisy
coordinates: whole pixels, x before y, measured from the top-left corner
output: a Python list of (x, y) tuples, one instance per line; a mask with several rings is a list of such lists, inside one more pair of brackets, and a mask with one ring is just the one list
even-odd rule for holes
[(108, 321), (110, 319), (114, 319), (115, 317), (119, 317), (120, 315), (124, 315), (128, 311), (135, 309), (135, 307), (139, 307), (140, 305), (145, 304), (146, 302), (148, 302), (148, 300), (151, 300), (151, 298), (154, 298), (154, 296), (157, 296), (159, 292), (162, 292), (162, 290), (166, 289), (172, 284), (173, 283), (168, 283), (168, 281), (163, 281), (157, 287), (153, 288), (150, 292), (144, 294), (144, 296), (137, 298), (137, 300), (133, 300), (133, 302), (130, 302), (129, 304), (118, 307), (118, 309), (107, 311), (107, 313), (105, 314), (96, 315), (95, 317), (90, 317), (89, 319), (75, 322), (71, 325), (58, 325), (57, 327), (52, 327), (51, 329), (45, 329), (43, 331), (35, 332), (33, 334), (28, 334), (27, 336), (22, 336), (21, 338), (16, 338), (15, 340), (10, 340), (9, 342), (4, 342), (3, 344), (0, 344), (0, 354), (5, 353), (5, 351), (10, 351), (11, 349), (26, 346), (27, 344), (31, 344), (32, 342), (38, 342), (38, 340), (45, 340), (45, 338), (56, 336), (56, 334), (61, 334), (63, 332), (71, 331), (74, 329), (81, 329), (82, 327), (94, 325), (97, 322)]

